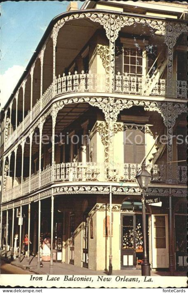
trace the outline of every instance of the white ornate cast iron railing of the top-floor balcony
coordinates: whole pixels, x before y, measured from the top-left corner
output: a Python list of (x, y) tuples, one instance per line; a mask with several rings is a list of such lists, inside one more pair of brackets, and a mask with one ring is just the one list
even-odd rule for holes
[[(40, 114), (43, 108), (54, 98), (54, 96), (65, 93), (119, 93), (126, 95), (137, 96), (167, 96), (167, 81), (165, 79), (151, 79), (141, 76), (130, 76), (128, 74), (120, 75), (118, 72), (114, 76), (114, 89), (109, 85), (109, 75), (84, 73), (69, 74), (55, 79), (49, 86), (31, 111), (28, 111), (27, 116), (18, 125), (16, 130), (8, 137), (5, 142), (5, 149), (18, 139), (21, 133), (26, 130), (30, 123)], [(168, 98), (170, 98), (168, 96)], [(187, 98), (187, 82), (172, 81), (172, 96), (171, 98)]]

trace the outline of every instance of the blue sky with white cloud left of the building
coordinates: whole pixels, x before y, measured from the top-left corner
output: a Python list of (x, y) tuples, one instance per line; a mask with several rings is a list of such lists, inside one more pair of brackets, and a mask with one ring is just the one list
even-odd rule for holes
[[(77, 2), (80, 8), (83, 2)], [(16, 86), (48, 24), (65, 12), (68, 4), (68, 1), (1, 3), (1, 106)]]

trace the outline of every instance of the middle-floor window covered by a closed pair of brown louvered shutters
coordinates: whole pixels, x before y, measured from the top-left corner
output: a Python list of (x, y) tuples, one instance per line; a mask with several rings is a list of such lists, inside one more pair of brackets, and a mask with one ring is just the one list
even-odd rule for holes
[[(140, 126), (140, 125), (139, 125)], [(136, 125), (124, 131), (124, 163), (140, 164), (145, 156), (145, 132)]]

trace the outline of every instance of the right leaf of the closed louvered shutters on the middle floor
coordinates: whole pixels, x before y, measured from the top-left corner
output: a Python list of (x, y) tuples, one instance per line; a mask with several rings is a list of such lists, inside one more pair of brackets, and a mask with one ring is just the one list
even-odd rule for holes
[(135, 163), (140, 164), (145, 156), (145, 133), (141, 130), (135, 129), (134, 131), (135, 137)]

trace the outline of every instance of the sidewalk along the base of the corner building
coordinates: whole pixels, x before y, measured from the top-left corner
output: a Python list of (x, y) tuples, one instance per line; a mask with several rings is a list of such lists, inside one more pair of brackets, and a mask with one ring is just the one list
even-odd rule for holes
[[(19, 268), (26, 270), (27, 260), (26, 257), (21, 255), (21, 262), (18, 262), (18, 258), (15, 260), (10, 259), (10, 251), (7, 253), (7, 258), (5, 256), (5, 251), (1, 253), (1, 259), (5, 262), (15, 265)], [(112, 264), (113, 265), (113, 264)], [(43, 267), (40, 270), (37, 269), (37, 258), (35, 256), (30, 256), (30, 268), (29, 271), (35, 274), (49, 275), (50, 274), (50, 262), (43, 262)], [(87, 268), (80, 268), (75, 265), (67, 263), (53, 263), (53, 275), (108, 275), (108, 271), (94, 271)], [(121, 275), (121, 276), (141, 276), (141, 270), (113, 270), (112, 275)], [(153, 272), (151, 271), (151, 276), (170, 276), (170, 272)], [(186, 271), (176, 271), (174, 276), (186, 276)]]

